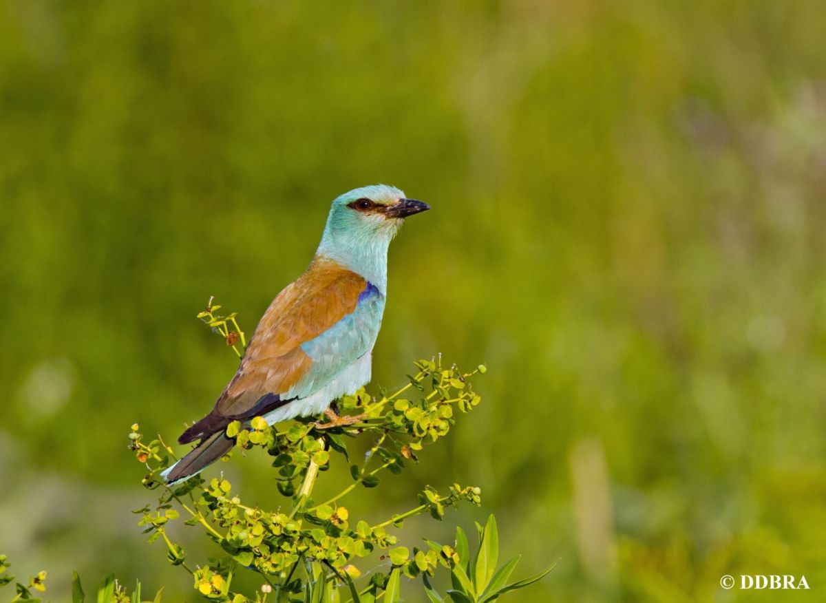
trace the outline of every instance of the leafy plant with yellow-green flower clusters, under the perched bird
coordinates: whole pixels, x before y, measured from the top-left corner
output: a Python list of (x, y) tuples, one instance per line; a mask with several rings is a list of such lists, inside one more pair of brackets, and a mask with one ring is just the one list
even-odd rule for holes
[[(235, 315), (216, 317), (212, 312), (218, 307), (210, 300), (206, 313), (199, 317), (206, 318), (227, 344), (235, 346), (238, 339), (230, 340), (233, 332), (240, 332)], [(229, 330), (229, 320), (235, 331)], [(438, 567), (451, 572), (454, 586), (448, 596), (462, 603), (493, 601), (506, 591), (539, 580), (545, 572), (506, 585), (516, 559), (494, 574), (498, 536), (492, 516), (487, 527), (480, 528), (480, 552), (472, 578), (467, 576), (471, 565), (467, 539), (463, 539), (461, 530), (453, 546), (428, 540), (412, 551), (397, 546), (396, 536), (388, 529), (424, 513), (441, 520), (445, 510), (460, 501), (479, 505), (477, 487), (453, 484), (444, 494), (425, 487), (417, 506), (373, 525), (355, 518), (342, 504), (355, 488), (377, 487), (386, 473), (400, 473), (406, 463), (417, 462), (416, 453), (448, 434), (458, 415), (471, 411), (481, 401), (473, 391), (472, 377), (485, 373), (484, 365), (464, 373), (443, 363), (439, 356), (420, 360), (415, 368), (406, 385), (395, 392), (382, 391), (373, 397), (362, 390), (339, 400), (339, 411), (357, 418), (352, 425), (296, 420), (270, 427), (262, 417), (255, 417), (249, 423), (235, 421), (227, 427), (227, 435), (236, 439), (235, 449), (260, 449), (273, 458), (278, 491), (292, 499), (289, 510), (244, 504), (230, 482), (218, 477), (205, 480), (197, 476), (183, 484), (166, 486), (159, 473), (173, 462), (173, 450), (160, 436), (145, 442), (139, 425), (132, 425), (130, 447), (149, 469), (143, 484), (159, 491), (156, 503), (135, 510), (150, 542), (164, 543), (169, 563), (189, 572), (202, 596), (232, 603), (369, 603), (382, 596), (383, 601), (392, 603), (401, 601), (401, 577), (420, 576), (430, 599), (444, 601), (430, 583)], [(372, 443), (363, 463), (348, 453), (356, 438)], [(334, 455), (338, 458), (335, 463)], [(352, 483), (329, 500), (316, 501), (312, 496), (316, 480), (333, 464), (348, 468)], [(187, 553), (173, 542), (167, 530), (170, 522), (179, 520), (182, 514), (184, 524), (205, 530), (221, 556), (202, 565), (188, 563)], [(362, 575), (357, 564), (371, 553), (379, 553), (381, 562), (389, 561), (390, 571), (371, 571), (369, 580), (356, 586)], [(260, 590), (236, 591), (232, 583), (239, 572), (257, 574)]]

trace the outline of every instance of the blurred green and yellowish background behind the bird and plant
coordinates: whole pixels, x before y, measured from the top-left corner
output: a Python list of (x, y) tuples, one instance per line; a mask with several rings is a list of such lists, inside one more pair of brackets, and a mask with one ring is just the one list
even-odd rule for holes
[[(129, 512), (129, 425), (202, 415), (235, 370), (207, 297), (252, 330), (332, 198), (384, 182), (434, 211), (392, 246), (373, 391), (437, 352), (490, 370), (351, 512), (482, 487), (401, 536), (496, 512), (517, 573), (559, 559), (513, 601), (755, 600), (727, 573), (821, 597), (824, 22), (818, 0), (0, 3), (0, 552), (52, 601), (74, 568), (194, 601)], [(267, 465), (219, 469), (274, 505)]]

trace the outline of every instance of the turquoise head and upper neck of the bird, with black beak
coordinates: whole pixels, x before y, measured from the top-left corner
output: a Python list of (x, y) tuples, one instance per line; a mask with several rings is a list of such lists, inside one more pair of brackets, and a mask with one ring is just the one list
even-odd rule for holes
[(363, 274), (359, 268), (368, 270), (387, 256), (387, 245), (406, 217), (429, 209), (427, 203), (408, 199), (386, 184), (355, 188), (330, 207), (318, 253)]

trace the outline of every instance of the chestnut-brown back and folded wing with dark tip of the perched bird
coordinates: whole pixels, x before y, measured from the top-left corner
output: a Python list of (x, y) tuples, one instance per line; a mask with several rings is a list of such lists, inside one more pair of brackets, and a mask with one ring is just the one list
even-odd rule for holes
[[(312, 367), (301, 344), (353, 312), (367, 286), (358, 274), (329, 259), (314, 259), (264, 312), (232, 377), (211, 413), (184, 431), (181, 444), (222, 430), (232, 420), (251, 419), (278, 406)], [(282, 397), (284, 396), (284, 397)]]

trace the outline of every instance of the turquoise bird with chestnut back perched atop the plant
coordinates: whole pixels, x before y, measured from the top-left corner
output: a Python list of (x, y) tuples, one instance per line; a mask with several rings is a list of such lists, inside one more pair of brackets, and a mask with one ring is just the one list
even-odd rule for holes
[(407, 217), (428, 210), (385, 184), (335, 198), (310, 265), (270, 303), (210, 413), (178, 438), (198, 443), (161, 473), (167, 485), (229, 452), (232, 421), (249, 426), (261, 416), (273, 425), (325, 412), (334, 424), (347, 423), (330, 404), (370, 381), (387, 299), (387, 249)]

